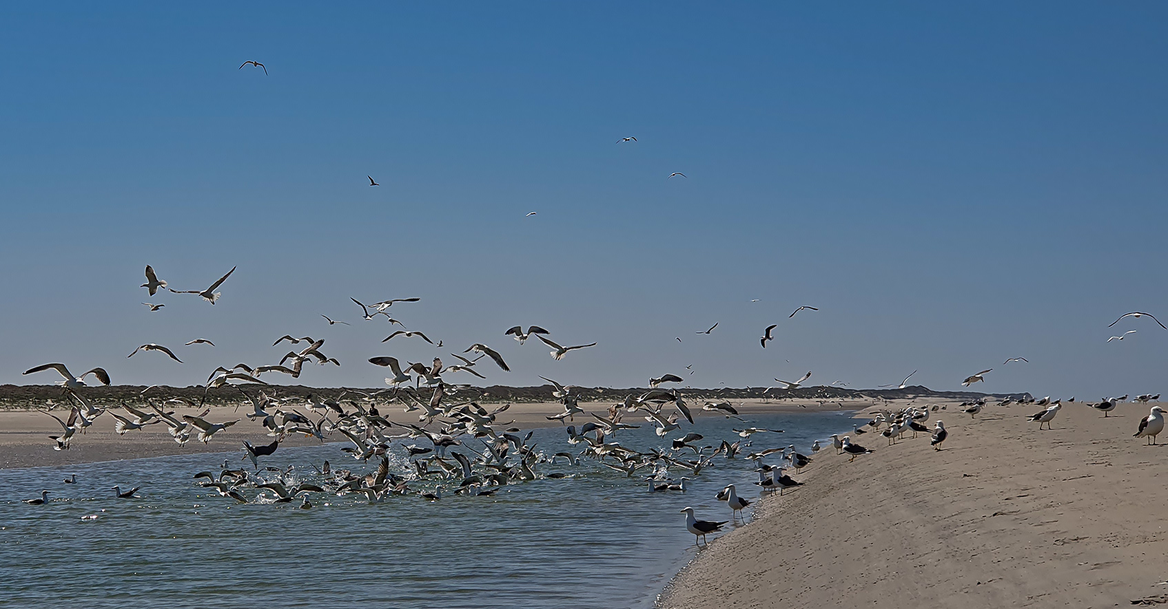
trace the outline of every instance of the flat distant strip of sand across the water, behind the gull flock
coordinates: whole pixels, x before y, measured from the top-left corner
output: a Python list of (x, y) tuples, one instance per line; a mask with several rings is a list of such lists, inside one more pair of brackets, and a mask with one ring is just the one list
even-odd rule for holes
[[(738, 405), (739, 402), (735, 402)], [(610, 402), (580, 402), (588, 412), (605, 413)], [(494, 410), (499, 405), (486, 405), (487, 410)], [(843, 402), (830, 405), (818, 405), (807, 400), (748, 400), (741, 404), (739, 412), (744, 418), (750, 418), (751, 413), (772, 412), (808, 412), (822, 410), (841, 410), (841, 407), (860, 408), (862, 405)], [(298, 408), (307, 413), (305, 408)], [(694, 416), (719, 416), (701, 410), (701, 406), (693, 406)], [(114, 411), (125, 414), (119, 410)], [(196, 408), (179, 408), (175, 415), (197, 414)], [(222, 422), (242, 419), (238, 424), (215, 434), (209, 443), (203, 444), (194, 440), (186, 446), (179, 446), (167, 433), (161, 424), (148, 426), (145, 429), (128, 432), (118, 435), (113, 432), (114, 419), (109, 415), (99, 416), (98, 420), (82, 435), (77, 434), (69, 450), (54, 450), (54, 442), (50, 435), (61, 433), (61, 425), (53, 418), (32, 410), (0, 411), (0, 469), (25, 468), (34, 466), (68, 466), (72, 463), (88, 463), (95, 461), (112, 461), (119, 459), (142, 459), (166, 455), (179, 455), (186, 453), (220, 453), (224, 450), (242, 450), (241, 442), (248, 440), (252, 443), (267, 443), (271, 441), (260, 427), (259, 421), (249, 421), (244, 414), (251, 412), (248, 407), (235, 408), (231, 406), (213, 407), (206, 416), (208, 421)], [(513, 404), (506, 412), (499, 415), (499, 421), (509, 424), (521, 429), (536, 427), (555, 427), (558, 421), (550, 421), (547, 418), (563, 412), (563, 406), (557, 402), (536, 404)], [(399, 406), (383, 408), (385, 416), (395, 422), (418, 424), (417, 412), (404, 413)], [(54, 414), (62, 419), (68, 419), (68, 411), (54, 411)], [(632, 415), (630, 415), (633, 418)], [(318, 416), (311, 416), (313, 420)], [(335, 415), (333, 416), (335, 419)], [(639, 418), (637, 418), (639, 419)], [(580, 425), (592, 420), (584, 415), (577, 415), (575, 425)], [(566, 425), (571, 425), (569, 421)], [(635, 424), (635, 421), (634, 421)], [(436, 425), (430, 426), (437, 429)], [(402, 432), (397, 432), (402, 433)], [(327, 441), (343, 441), (340, 434), (334, 434)], [(425, 440), (422, 440), (425, 443)], [(287, 436), (281, 446), (314, 446), (320, 442), (312, 438)], [(242, 454), (242, 453), (241, 453)]]

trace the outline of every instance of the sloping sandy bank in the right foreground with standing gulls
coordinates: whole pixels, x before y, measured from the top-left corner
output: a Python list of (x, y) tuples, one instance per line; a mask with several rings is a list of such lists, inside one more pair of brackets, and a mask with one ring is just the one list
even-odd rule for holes
[[(711, 541), (676, 578), (666, 609), (764, 607), (1118, 607), (1168, 603), (1168, 447), (1132, 434), (1148, 406), (1111, 416), (1063, 407), (1054, 430), (1034, 406), (976, 420), (849, 463), (833, 448), (758, 502), (749, 526)], [(729, 513), (698, 514), (722, 520)]]

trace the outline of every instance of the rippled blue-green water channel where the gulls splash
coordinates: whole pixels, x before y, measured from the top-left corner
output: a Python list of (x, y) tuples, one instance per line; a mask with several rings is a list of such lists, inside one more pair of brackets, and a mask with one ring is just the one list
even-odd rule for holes
[[(809, 454), (813, 439), (850, 427), (849, 414), (756, 416), (751, 425), (786, 433), (757, 434), (743, 454), (792, 443)], [(730, 428), (741, 426), (704, 416), (669, 436), (696, 430), (705, 435), (700, 444), (717, 446), (737, 440)], [(666, 446), (648, 426), (607, 440), (642, 450)], [(464, 442), (481, 449), (477, 440)], [(531, 442), (549, 455), (580, 448), (566, 443), (563, 428), (537, 429)], [(319, 480), (311, 464), (326, 459), (356, 474), (376, 469), (342, 453), (343, 446), (281, 448), (260, 466), (293, 464), (310, 482)], [(737, 483), (743, 496), (755, 497), (758, 480), (745, 459), (718, 456), (700, 476), (670, 469), (670, 477), (690, 478), (686, 494), (651, 494), (648, 469), (630, 478), (585, 459), (577, 467), (540, 467), (543, 475), (570, 478), (509, 484), (493, 497), (369, 504), (356, 495), (313, 494), (312, 510), (297, 509), (299, 502), (236, 504), (192, 480), (217, 471), (224, 459), (250, 469), (241, 456), (0, 470), (0, 606), (647, 609), (696, 552), (679, 510), (693, 506), (698, 518), (729, 520), (730, 509), (715, 494)], [(395, 462), (409, 464), (404, 452)], [(64, 484), (67, 474), (77, 483)], [(114, 498), (114, 484), (141, 487), (140, 498)], [(41, 489), (49, 490), (48, 505), (21, 503)], [(253, 498), (256, 490), (245, 495)]]

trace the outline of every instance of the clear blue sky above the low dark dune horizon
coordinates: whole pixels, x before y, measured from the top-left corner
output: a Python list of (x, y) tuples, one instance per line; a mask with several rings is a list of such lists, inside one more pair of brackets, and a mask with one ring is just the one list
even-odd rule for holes
[[(194, 385), (310, 334), (342, 363), (306, 364), (299, 383), (324, 386), (380, 385), (370, 356), (450, 363), (484, 342), (514, 371), (479, 370), (509, 385), (811, 370), (864, 387), (919, 369), (953, 390), (993, 368), (978, 388), (1168, 391), (1168, 330), (1107, 328), (1168, 323), (1166, 16), (2, 5), (0, 383), (55, 382), (20, 373), (63, 362)], [(148, 298), (146, 264), (179, 289), (238, 271), (211, 306)], [(422, 298), (391, 313), (449, 348), (381, 344), (391, 328), (349, 296)], [(788, 318), (800, 304), (821, 310)], [(599, 345), (554, 362), (502, 335), (531, 323)], [(182, 345), (196, 337), (217, 346)], [(186, 363), (126, 358), (147, 342)]]

